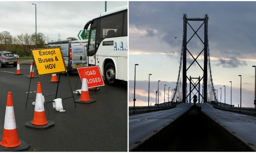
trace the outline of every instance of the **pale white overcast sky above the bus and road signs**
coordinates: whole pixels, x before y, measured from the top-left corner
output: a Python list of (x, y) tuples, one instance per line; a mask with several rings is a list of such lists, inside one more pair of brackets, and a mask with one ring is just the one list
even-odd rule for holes
[[(32, 5), (32, 3), (36, 4)], [(108, 1), (107, 11), (127, 5), (127, 1)], [(0, 1), (0, 32), (13, 37), (42, 32), (49, 41), (78, 38), (78, 33), (95, 16), (105, 12), (105, 1)]]

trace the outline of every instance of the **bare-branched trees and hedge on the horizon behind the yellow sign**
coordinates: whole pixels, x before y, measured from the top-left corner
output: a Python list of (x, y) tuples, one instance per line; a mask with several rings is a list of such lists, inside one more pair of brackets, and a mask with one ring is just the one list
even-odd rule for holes
[[(33, 34), (21, 33), (17, 37), (13, 37), (10, 32), (0, 32), (0, 51), (10, 51), (19, 56), (31, 56), (31, 50), (36, 47), (37, 37), (37, 48), (46, 47), (46, 37), (43, 33), (34, 32)], [(70, 39), (71, 37), (67, 38)], [(72, 37), (73, 38), (73, 37)], [(76, 39), (76, 38), (73, 38)], [(77, 39), (76, 39), (77, 40)]]

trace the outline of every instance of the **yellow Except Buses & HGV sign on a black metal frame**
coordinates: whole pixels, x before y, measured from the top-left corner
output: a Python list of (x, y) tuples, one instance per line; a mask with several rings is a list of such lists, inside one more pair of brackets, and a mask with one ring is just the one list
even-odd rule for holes
[(38, 76), (67, 72), (60, 47), (31, 49)]

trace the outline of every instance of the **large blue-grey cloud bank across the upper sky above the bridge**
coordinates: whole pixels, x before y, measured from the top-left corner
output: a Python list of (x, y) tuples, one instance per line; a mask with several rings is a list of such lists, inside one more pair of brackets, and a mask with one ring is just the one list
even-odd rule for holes
[[(251, 20), (251, 16), (256, 15), (253, 11), (255, 4), (256, 2), (129, 2), (129, 27), (146, 31), (142, 34), (143, 41), (136, 40), (140, 46), (146, 48), (147, 42), (150, 41), (151, 49), (157, 46), (163, 53), (180, 54), (183, 41), (183, 14), (186, 13), (188, 18), (204, 18), (204, 14), (209, 14), (208, 37), (211, 57), (222, 59), (232, 54), (239, 59), (251, 60), (256, 56), (255, 31), (251, 30), (256, 24), (256, 21)], [(201, 24), (199, 22), (194, 24), (192, 21), (189, 23), (194, 30), (197, 30)], [(204, 27), (201, 27), (197, 32), (202, 40), (204, 40), (203, 29)], [(187, 32), (189, 39), (194, 32), (189, 26)], [(134, 36), (142, 35), (137, 33)], [(132, 45), (135, 44), (130, 43), (131, 48)], [(196, 35), (188, 45), (190, 51), (198, 48), (198, 51), (201, 51), (202, 43)], [(140, 50), (146, 51), (146, 49)], [(235, 65), (241, 64), (245, 63), (239, 61)], [(232, 65), (231, 63), (225, 67)]]

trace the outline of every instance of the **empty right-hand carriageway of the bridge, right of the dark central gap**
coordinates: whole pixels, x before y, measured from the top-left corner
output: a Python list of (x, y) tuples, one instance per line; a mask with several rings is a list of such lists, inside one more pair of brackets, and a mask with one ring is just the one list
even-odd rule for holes
[(256, 145), (256, 117), (238, 114), (230, 111), (222, 111), (213, 108), (210, 104), (198, 104), (201, 111), (216, 119), (236, 134), (240, 135), (251, 144)]

